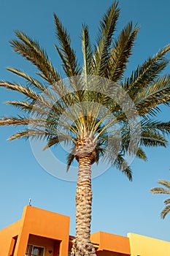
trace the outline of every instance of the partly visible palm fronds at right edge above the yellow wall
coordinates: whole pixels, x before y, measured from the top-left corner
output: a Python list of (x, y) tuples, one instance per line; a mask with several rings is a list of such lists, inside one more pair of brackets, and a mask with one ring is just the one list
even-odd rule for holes
[[(158, 180), (158, 184), (163, 185), (163, 187), (154, 187), (150, 189), (152, 194), (166, 194), (170, 195), (170, 181), (165, 181), (165, 180)], [(170, 198), (166, 199), (163, 201), (165, 203), (165, 208), (163, 208), (163, 211), (161, 211), (161, 217), (164, 219), (166, 217), (166, 214), (169, 214), (170, 211)]]

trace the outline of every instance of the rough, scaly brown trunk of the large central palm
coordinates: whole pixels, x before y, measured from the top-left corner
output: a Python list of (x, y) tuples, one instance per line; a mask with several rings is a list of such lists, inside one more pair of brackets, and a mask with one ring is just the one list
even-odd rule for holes
[(90, 242), (91, 204), (91, 159), (88, 156), (80, 157), (76, 192), (76, 238), (73, 241), (72, 256), (96, 256)]

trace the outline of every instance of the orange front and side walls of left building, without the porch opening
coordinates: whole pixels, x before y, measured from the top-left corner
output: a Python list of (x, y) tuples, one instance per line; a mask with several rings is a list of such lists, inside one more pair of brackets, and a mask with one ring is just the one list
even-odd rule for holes
[[(60, 255), (68, 255), (69, 217), (33, 206), (26, 206), (20, 221), (0, 231), (0, 244), (3, 244), (0, 246), (0, 256), (11, 255), (12, 237), (15, 236), (18, 236), (18, 240), (14, 256), (24, 256), (28, 242), (33, 239), (31, 235), (42, 237), (42, 239), (49, 238), (53, 241), (61, 241)], [(48, 246), (52, 247), (52, 244), (48, 244)]]

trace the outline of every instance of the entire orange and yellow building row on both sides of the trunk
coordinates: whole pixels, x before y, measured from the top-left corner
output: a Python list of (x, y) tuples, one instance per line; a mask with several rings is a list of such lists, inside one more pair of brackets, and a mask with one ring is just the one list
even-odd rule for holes
[[(72, 248), (69, 217), (26, 206), (23, 216), (0, 230), (0, 256), (68, 256)], [(129, 233), (128, 237), (91, 235), (97, 256), (166, 256), (170, 242)]]

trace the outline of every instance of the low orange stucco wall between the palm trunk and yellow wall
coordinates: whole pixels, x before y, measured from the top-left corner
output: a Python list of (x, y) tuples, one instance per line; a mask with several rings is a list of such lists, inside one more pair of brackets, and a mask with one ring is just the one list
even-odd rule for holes
[[(108, 255), (109, 252), (114, 252), (114, 255), (131, 255), (129, 239), (124, 236), (117, 236), (110, 233), (97, 232), (91, 235), (91, 241), (98, 244), (98, 251), (104, 251), (103, 254)], [(107, 252), (108, 251), (108, 252)]]

